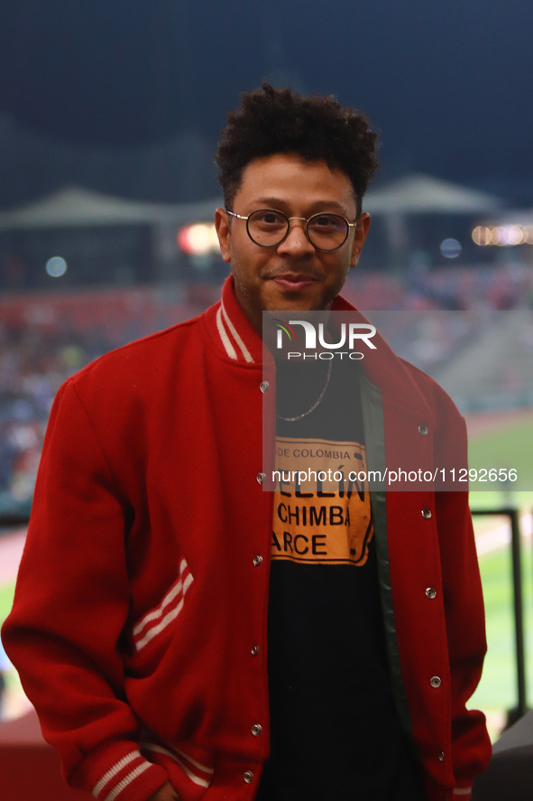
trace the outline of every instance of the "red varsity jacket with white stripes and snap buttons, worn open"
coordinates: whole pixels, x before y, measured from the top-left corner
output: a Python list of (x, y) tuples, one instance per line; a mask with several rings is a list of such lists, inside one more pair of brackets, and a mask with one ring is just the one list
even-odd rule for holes
[[(465, 458), (450, 399), (375, 341), (369, 466), (418, 469), (452, 447)], [(221, 303), (97, 359), (56, 398), (3, 637), (66, 778), (98, 801), (146, 801), (169, 778), (183, 801), (257, 790), (274, 388), (262, 381), (262, 340), (230, 278)], [(376, 491), (372, 516), (400, 719), (429, 801), (468, 799), (490, 742), (465, 708), (486, 647), (466, 493)]]

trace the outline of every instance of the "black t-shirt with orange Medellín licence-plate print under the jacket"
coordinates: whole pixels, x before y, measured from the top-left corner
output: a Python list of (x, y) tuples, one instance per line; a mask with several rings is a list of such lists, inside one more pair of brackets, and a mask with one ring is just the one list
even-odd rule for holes
[[(357, 479), (366, 468), (358, 369), (278, 368), (284, 472), (274, 499), (262, 801), (422, 797), (392, 701), (370, 498)], [(315, 478), (320, 468), (331, 480)], [(288, 480), (293, 470), (300, 480)]]

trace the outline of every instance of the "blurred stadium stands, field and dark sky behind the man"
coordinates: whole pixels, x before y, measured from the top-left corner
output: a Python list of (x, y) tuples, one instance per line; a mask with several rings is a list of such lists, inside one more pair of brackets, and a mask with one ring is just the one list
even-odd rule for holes
[[(472, 505), (520, 510), (533, 703), (533, 8), (377, 0), (354, 16), (337, 2), (322, 35), (316, 0), (72, 9), (0, 10), (0, 619), (60, 383), (218, 297), (216, 133), (267, 78), (334, 92), (380, 129), (371, 235), (345, 294), (455, 398), (472, 463), (519, 473)], [(475, 528), (489, 656), (473, 703), (496, 737), (517, 703), (510, 530)], [(25, 702), (0, 667), (14, 716)]]

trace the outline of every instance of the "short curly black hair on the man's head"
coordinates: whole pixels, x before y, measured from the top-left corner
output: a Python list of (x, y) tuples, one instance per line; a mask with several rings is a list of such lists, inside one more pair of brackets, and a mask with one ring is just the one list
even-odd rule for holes
[(354, 187), (357, 216), (361, 214), (364, 192), (379, 166), (377, 134), (363, 114), (333, 97), (303, 98), (269, 83), (244, 92), (241, 99), (241, 106), (227, 115), (216, 151), (226, 209), (233, 209), (244, 168), (253, 159), (298, 153), (345, 172)]

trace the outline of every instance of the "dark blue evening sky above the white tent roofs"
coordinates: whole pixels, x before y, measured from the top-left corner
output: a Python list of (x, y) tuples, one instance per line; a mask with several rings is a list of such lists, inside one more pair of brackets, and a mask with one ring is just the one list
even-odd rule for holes
[(262, 79), (366, 113), (381, 182), (531, 205), (531, 31), (529, 0), (2, 0), (0, 206), (72, 183), (216, 195), (225, 113)]

